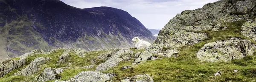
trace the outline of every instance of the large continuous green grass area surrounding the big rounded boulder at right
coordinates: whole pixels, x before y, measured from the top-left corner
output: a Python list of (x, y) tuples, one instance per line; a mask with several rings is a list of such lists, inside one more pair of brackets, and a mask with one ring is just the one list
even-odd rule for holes
[[(210, 63), (198, 60), (196, 53), (204, 44), (227, 40), (231, 37), (245, 38), (240, 34), (241, 25), (244, 20), (230, 22), (226, 30), (211, 31), (203, 30), (201, 33), (207, 33), (208, 38), (203, 41), (182, 46), (179, 48), (177, 58), (163, 58), (158, 60), (149, 60), (146, 63), (139, 64), (137, 67), (122, 70), (123, 66), (131, 66), (132, 62), (122, 62), (119, 66), (105, 71), (117, 74), (113, 80), (122, 80), (125, 77), (131, 77), (140, 74), (149, 74), (154, 76), (155, 82), (251, 82), (256, 81), (256, 53), (253, 56), (247, 56), (243, 59), (232, 60), (230, 62)], [(249, 39), (251, 40), (251, 39)], [(255, 41), (251, 40), (253, 43)], [(233, 72), (234, 69), (239, 72)], [(217, 71), (223, 71), (221, 76), (214, 77)]]

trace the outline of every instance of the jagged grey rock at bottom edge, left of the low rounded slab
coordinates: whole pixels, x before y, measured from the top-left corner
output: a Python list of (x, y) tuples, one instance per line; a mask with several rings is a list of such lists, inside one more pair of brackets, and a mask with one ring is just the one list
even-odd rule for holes
[(37, 82), (46, 82), (49, 80), (55, 80), (55, 79), (60, 79), (60, 73), (62, 73), (63, 69), (58, 68), (58, 69), (52, 69), (52, 68), (45, 68), (44, 72), (37, 77), (35, 77), (35, 81)]

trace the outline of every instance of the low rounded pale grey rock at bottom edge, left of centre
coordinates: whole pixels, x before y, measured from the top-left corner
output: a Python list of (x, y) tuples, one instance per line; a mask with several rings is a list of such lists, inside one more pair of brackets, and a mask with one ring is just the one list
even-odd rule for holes
[(106, 82), (110, 80), (113, 75), (103, 74), (96, 71), (82, 71), (69, 81), (55, 81), (55, 82)]

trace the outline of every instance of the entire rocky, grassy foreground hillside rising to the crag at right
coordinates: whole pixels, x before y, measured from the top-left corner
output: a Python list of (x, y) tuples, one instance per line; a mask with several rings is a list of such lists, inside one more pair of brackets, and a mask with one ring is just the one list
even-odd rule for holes
[(0, 64), (0, 82), (256, 82), (256, 1), (177, 14), (148, 49), (33, 50)]

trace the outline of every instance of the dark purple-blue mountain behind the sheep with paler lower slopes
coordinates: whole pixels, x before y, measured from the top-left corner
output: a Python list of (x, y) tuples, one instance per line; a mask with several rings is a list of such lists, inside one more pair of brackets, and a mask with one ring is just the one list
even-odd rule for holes
[(0, 59), (33, 49), (132, 47), (135, 36), (154, 40), (139, 20), (120, 9), (80, 9), (59, 0), (0, 0)]

